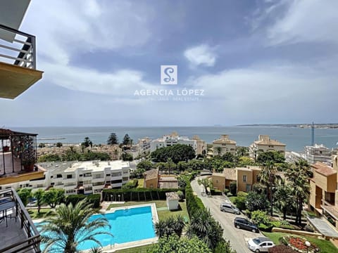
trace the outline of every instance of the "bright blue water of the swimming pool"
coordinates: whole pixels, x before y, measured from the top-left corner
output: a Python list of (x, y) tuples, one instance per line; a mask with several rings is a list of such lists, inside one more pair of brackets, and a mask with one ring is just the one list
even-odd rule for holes
[[(100, 216), (102, 216), (102, 214), (94, 214), (89, 219), (97, 219)], [(120, 209), (113, 213), (105, 214), (104, 216), (111, 225), (110, 230), (109, 228), (105, 229), (114, 236), (96, 235), (95, 238), (101, 242), (102, 246), (112, 245), (113, 243), (144, 240), (156, 236), (150, 206)], [(104, 229), (100, 229), (100, 231), (103, 230)], [(99, 231), (99, 229), (96, 231)], [(87, 241), (79, 245), (78, 249), (90, 249), (95, 246), (95, 242)]]

